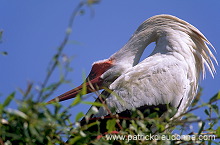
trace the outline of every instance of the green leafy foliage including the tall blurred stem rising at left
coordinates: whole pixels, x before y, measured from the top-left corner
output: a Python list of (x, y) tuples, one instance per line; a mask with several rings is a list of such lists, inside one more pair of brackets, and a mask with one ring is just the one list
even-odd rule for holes
[[(82, 96), (86, 93), (85, 89), (77, 95), (69, 106), (62, 106), (58, 102), (44, 103), (45, 99), (51, 96), (60, 85), (69, 82), (66, 76), (72, 69), (70, 68), (70, 59), (63, 54), (63, 49), (69, 40), (74, 18), (79, 13), (82, 14), (83, 7), (91, 7), (98, 2), (98, 0), (81, 1), (73, 10), (66, 36), (49, 63), (46, 77), (38, 90), (38, 94), (33, 89), (34, 84), (28, 83), (27, 89), (19, 89), (20, 94), (23, 96), (22, 100), (16, 100), (17, 93), (13, 92), (0, 104), (0, 144), (218, 144), (220, 138), (218, 105), (220, 92), (211, 97), (209, 102), (199, 104), (202, 94), (202, 89), (200, 89), (192, 108), (182, 114), (181, 120), (179, 118), (170, 120), (170, 116), (173, 116), (175, 112), (172, 108), (169, 108), (169, 113), (163, 118), (159, 117), (157, 113), (144, 117), (142, 112), (138, 110), (133, 110), (134, 115), (131, 118), (112, 115), (106, 122), (106, 133), (100, 132), (103, 119), (97, 118), (97, 120), (84, 125), (79, 123), (83, 117), (87, 121), (90, 120), (91, 114), (85, 115), (83, 112), (79, 112), (75, 116), (75, 122), (70, 121), (71, 114), (68, 110), (80, 103), (96, 107), (106, 106), (103, 103), (84, 101)], [(59, 80), (48, 84), (50, 76), (57, 67), (63, 69)], [(17, 101), (17, 109), (8, 107), (11, 101)], [(97, 112), (96, 107), (92, 108), (93, 113)], [(193, 111), (198, 109), (204, 111), (206, 118), (202, 119), (193, 114)], [(193, 129), (193, 132), (189, 132), (192, 124), (194, 126), (198, 124), (198, 128)], [(149, 129), (149, 126), (153, 126), (154, 131)], [(97, 131), (91, 130), (94, 127), (97, 128)], [(178, 134), (172, 133), (174, 129)], [(188, 136), (179, 137), (180, 135), (186, 135), (186, 133), (188, 133)], [(199, 140), (200, 135), (213, 136), (212, 138)], [(195, 136), (195, 139), (192, 139), (193, 136)], [(167, 139), (163, 140), (161, 137)], [(174, 137), (176, 137), (176, 140), (172, 140)]]

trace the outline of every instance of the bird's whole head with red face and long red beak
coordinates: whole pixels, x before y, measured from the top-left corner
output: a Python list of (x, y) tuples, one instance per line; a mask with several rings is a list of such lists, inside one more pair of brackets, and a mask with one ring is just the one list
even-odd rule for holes
[(82, 85), (50, 100), (48, 103), (56, 100), (61, 102), (74, 98), (83, 89), (83, 87), (86, 88), (87, 94), (101, 90), (105, 87), (108, 88), (108, 86), (122, 74), (123, 70), (123, 67), (116, 65), (114, 59), (110, 58), (97, 61), (93, 63), (92, 69)]

